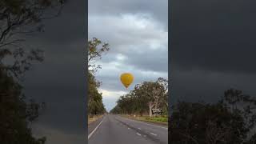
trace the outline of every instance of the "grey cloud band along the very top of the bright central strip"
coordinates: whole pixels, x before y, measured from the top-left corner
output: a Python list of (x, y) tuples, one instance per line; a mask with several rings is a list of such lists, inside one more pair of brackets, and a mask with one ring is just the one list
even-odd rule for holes
[[(146, 14), (150, 13), (154, 18), (161, 21), (167, 28), (168, 0), (95, 0), (89, 1), (89, 15), (118, 15), (118, 14)], [(103, 16), (102, 16), (103, 17)]]

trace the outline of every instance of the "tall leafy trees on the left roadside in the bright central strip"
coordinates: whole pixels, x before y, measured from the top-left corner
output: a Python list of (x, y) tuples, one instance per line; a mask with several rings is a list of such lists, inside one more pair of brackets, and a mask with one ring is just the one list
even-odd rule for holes
[(106, 109), (102, 102), (102, 93), (98, 91), (101, 82), (98, 82), (94, 75), (101, 69), (101, 66), (96, 64), (97, 60), (102, 58), (102, 54), (106, 53), (110, 48), (108, 43), (103, 43), (98, 38), (90, 40), (88, 45), (88, 114), (103, 114)]

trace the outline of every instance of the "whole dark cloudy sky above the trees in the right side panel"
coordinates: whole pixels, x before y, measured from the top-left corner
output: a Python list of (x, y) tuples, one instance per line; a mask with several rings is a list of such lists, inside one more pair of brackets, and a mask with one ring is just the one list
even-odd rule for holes
[(255, 95), (256, 2), (174, 1), (172, 100), (217, 102), (231, 87)]

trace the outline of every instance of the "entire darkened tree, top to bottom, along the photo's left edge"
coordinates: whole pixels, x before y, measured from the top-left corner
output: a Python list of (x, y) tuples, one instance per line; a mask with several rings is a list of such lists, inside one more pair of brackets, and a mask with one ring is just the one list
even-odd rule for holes
[(0, 2), (0, 142), (41, 144), (30, 125), (43, 106), (22, 94), (21, 80), (33, 61), (42, 62), (42, 50), (24, 46), (30, 34), (43, 31), (42, 21), (57, 17), (64, 1), (2, 0)]

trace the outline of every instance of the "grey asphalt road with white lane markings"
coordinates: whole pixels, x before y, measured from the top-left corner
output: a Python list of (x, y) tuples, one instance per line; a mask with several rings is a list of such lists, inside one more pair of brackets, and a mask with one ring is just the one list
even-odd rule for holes
[[(89, 144), (167, 144), (167, 127), (138, 122), (107, 114), (93, 134)], [(91, 133), (91, 132), (89, 132)]]

